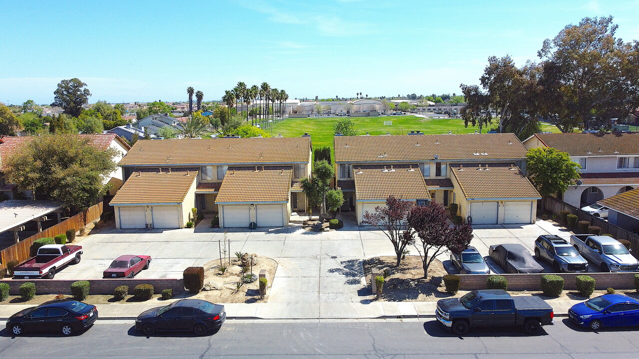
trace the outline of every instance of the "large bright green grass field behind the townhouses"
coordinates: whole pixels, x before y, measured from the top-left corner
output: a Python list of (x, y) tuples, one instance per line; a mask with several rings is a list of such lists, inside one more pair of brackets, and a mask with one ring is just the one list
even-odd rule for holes
[[(284, 137), (300, 137), (304, 133), (311, 135), (311, 141), (314, 147), (329, 146), (333, 147), (333, 125), (343, 118), (290, 118), (285, 119), (281, 123), (277, 123), (272, 127), (266, 128), (266, 131), (273, 136), (282, 134)], [(464, 126), (464, 121), (458, 118), (439, 118), (427, 119), (417, 116), (379, 116), (379, 117), (360, 117), (350, 118), (355, 123), (355, 129), (358, 135), (365, 135), (369, 132), (371, 135), (382, 135), (390, 132), (391, 135), (405, 135), (410, 131), (422, 131), (427, 135), (447, 134), (452, 131), (453, 134), (472, 134), (477, 127)], [(385, 126), (384, 121), (392, 121), (392, 125)], [(489, 128), (482, 128), (485, 134)], [(542, 131), (560, 132), (556, 126), (542, 125)]]

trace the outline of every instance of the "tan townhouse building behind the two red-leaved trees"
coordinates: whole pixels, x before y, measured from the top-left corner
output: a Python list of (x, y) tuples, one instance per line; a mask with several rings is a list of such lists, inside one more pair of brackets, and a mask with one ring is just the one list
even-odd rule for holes
[(473, 224), (527, 224), (539, 192), (525, 177), (526, 148), (514, 134), (335, 136), (342, 210), (383, 206), (389, 195), (449, 207)]

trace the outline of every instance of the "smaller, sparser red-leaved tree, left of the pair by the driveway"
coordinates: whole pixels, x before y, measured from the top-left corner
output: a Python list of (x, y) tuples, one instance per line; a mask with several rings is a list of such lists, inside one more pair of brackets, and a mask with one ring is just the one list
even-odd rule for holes
[(364, 213), (363, 224), (373, 225), (380, 229), (393, 243), (395, 254), (397, 256), (397, 263), (395, 266), (399, 266), (401, 263), (401, 257), (406, 249), (406, 246), (415, 243), (415, 238), (412, 234), (403, 233), (402, 224), (406, 222), (408, 213), (415, 208), (413, 202), (402, 201), (393, 196), (386, 199), (385, 207), (376, 207), (373, 213), (366, 211)]

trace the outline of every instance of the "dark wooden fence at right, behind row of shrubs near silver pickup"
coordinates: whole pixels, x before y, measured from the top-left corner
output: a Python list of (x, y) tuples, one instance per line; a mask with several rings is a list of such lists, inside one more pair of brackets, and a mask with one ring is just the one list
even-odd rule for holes
[(634, 248), (633, 254), (635, 257), (639, 258), (639, 235), (632, 233), (631, 231), (627, 231), (618, 225), (614, 225), (608, 223), (607, 220), (602, 218), (592, 216), (585, 211), (572, 206), (571, 204), (567, 204), (566, 202), (560, 201), (555, 197), (544, 197), (541, 200), (541, 205), (544, 210), (551, 211), (556, 215), (559, 214), (560, 211), (569, 211), (571, 214), (577, 216), (577, 220), (587, 220), (592, 225), (596, 225), (601, 228), (601, 233), (611, 234), (613, 238), (617, 240), (627, 240), (631, 243), (631, 248)]

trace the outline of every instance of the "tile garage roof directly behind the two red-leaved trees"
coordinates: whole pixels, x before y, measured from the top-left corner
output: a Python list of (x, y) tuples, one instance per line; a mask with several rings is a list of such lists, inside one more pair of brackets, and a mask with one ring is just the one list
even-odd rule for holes
[(380, 199), (390, 195), (401, 199), (430, 199), (424, 176), (419, 167), (406, 168), (387, 167), (353, 169), (355, 179), (355, 197), (358, 201)]

